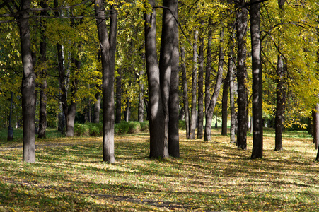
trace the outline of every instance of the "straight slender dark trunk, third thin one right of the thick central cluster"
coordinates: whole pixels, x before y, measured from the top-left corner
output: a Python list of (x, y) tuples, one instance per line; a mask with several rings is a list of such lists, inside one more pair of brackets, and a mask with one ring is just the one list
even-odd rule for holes
[[(204, 25), (204, 21), (200, 21)], [(203, 138), (204, 127), (204, 29), (201, 27), (199, 36), (199, 66), (198, 66), (198, 129), (197, 139)]]

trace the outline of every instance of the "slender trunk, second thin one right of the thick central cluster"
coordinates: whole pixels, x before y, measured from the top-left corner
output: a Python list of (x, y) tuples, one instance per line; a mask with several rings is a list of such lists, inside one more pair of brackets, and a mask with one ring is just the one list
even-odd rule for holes
[(193, 57), (192, 61), (194, 67), (192, 69), (192, 108), (190, 111), (190, 139), (195, 139), (195, 130), (197, 124), (197, 100), (196, 100), (196, 90), (197, 90), (197, 40), (198, 40), (198, 30), (194, 32), (194, 44), (193, 44)]

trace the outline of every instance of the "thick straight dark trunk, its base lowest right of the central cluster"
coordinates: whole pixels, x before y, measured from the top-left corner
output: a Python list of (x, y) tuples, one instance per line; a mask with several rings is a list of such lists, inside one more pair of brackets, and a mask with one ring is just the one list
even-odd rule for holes
[[(262, 63), (260, 40), (260, 3), (252, 0), (250, 6), (250, 35), (253, 68), (253, 152), (251, 158), (262, 158)], [(254, 4), (256, 3), (256, 4)]]

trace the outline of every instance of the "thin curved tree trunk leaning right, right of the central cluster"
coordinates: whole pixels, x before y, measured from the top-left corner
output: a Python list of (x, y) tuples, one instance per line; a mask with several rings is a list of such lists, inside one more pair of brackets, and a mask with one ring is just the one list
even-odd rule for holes
[(222, 46), (224, 42), (224, 28), (221, 29), (220, 35), (220, 45), (219, 45), (219, 68), (217, 72), (216, 84), (214, 88), (214, 93), (211, 96), (211, 100), (209, 102), (209, 107), (206, 113), (206, 123), (205, 123), (205, 131), (204, 131), (204, 141), (211, 141), (211, 122), (214, 115), (214, 110), (217, 102), (217, 98), (219, 95), (219, 90), (221, 89), (221, 81), (223, 80), (223, 71), (224, 71), (224, 48)]

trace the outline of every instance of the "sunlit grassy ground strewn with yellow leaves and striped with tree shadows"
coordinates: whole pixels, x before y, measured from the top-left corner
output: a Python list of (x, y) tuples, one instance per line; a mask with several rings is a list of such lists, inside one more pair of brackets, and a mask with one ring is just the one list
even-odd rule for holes
[(265, 130), (264, 159), (250, 160), (213, 129), (187, 141), (178, 159), (149, 159), (149, 136), (115, 137), (116, 163), (102, 163), (102, 139), (36, 141), (23, 163), (21, 139), (0, 140), (0, 211), (319, 211), (319, 163), (305, 132), (287, 132), (275, 152)]

